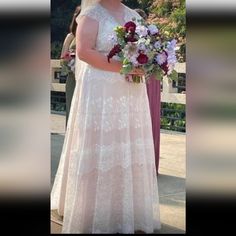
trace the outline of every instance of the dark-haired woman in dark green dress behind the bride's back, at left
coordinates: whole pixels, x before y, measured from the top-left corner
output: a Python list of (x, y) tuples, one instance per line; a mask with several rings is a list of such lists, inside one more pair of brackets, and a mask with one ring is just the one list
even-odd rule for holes
[[(80, 14), (80, 12), (81, 12), (81, 7), (77, 6), (70, 24), (70, 32), (67, 34), (63, 43), (61, 57), (63, 57), (65, 53), (68, 52), (70, 49), (75, 48), (75, 34), (77, 28), (77, 22), (75, 19)], [(70, 114), (70, 107), (71, 107), (72, 97), (74, 94), (74, 89), (75, 89), (75, 74), (72, 71), (70, 71), (66, 79), (66, 125)]]

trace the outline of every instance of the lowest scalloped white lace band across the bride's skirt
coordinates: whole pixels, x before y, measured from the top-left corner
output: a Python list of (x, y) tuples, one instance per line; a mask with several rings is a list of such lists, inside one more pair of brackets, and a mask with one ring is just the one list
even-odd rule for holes
[(112, 143), (110, 145), (99, 145), (83, 148), (79, 150), (72, 150), (71, 158), (81, 160), (83, 156), (84, 161), (78, 162), (78, 175), (89, 173), (94, 169), (101, 172), (111, 170), (116, 166), (124, 169), (129, 168), (133, 164), (138, 165), (155, 165), (155, 160), (146, 156), (147, 153), (152, 153), (153, 140), (137, 139), (131, 143)]

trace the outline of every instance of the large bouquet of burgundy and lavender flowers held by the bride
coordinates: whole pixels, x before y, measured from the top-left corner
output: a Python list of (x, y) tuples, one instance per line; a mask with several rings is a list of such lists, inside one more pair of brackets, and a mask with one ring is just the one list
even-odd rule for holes
[[(152, 75), (158, 80), (165, 75), (176, 79), (176, 40), (164, 40), (155, 25), (132, 19), (116, 27), (110, 40), (114, 47), (107, 56), (108, 62), (117, 56), (123, 64), (121, 74), (126, 75), (128, 81), (146, 82)], [(134, 69), (142, 69), (145, 76), (129, 75)]]

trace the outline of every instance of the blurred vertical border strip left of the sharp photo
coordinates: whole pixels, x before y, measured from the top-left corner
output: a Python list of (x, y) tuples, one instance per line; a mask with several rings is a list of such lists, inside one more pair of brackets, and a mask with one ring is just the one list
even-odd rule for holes
[(43, 234), (50, 226), (50, 2), (0, 1), (0, 35), (1, 224), (9, 234)]

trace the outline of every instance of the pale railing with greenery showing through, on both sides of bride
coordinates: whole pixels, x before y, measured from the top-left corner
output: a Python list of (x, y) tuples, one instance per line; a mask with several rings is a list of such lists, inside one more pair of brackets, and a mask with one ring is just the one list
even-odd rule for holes
[[(65, 112), (65, 80), (60, 73), (60, 61), (51, 60), (51, 110)], [(178, 80), (163, 78), (161, 90), (161, 127), (185, 131), (186, 64), (176, 65)], [(178, 104), (177, 106), (173, 104)]]

